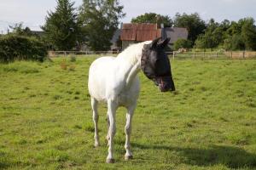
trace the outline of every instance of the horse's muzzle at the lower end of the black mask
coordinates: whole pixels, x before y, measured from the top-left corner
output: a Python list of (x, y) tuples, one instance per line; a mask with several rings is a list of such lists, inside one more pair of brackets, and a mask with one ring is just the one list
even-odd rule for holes
[(156, 77), (154, 82), (160, 88), (161, 92), (175, 91), (172, 77)]

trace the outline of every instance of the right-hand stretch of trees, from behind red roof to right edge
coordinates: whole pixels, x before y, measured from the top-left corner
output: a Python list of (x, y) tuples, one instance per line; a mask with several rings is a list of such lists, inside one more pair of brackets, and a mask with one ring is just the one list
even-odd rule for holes
[(173, 48), (222, 48), (225, 50), (256, 50), (255, 20), (248, 17), (241, 20), (223, 20), (218, 23), (214, 19), (208, 22), (200, 15), (179, 14), (173, 18), (168, 15), (147, 13), (131, 20), (133, 23), (163, 23), (165, 27), (185, 27), (189, 31), (188, 40), (179, 39)]

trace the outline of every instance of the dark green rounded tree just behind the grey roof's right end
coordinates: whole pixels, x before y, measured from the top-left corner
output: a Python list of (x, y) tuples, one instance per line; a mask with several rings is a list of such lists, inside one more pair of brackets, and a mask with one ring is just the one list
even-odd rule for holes
[(185, 27), (189, 31), (189, 40), (195, 42), (196, 38), (204, 33), (206, 29), (206, 23), (204, 20), (201, 20), (199, 14), (185, 14), (182, 15), (177, 13), (174, 17), (174, 26), (176, 27)]

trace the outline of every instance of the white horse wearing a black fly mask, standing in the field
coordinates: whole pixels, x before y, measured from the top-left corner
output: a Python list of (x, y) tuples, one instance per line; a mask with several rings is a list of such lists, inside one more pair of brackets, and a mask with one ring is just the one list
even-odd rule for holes
[(108, 105), (108, 156), (107, 163), (113, 163), (113, 137), (116, 132), (115, 115), (119, 106), (127, 109), (125, 123), (125, 161), (132, 159), (131, 119), (137, 106), (140, 82), (137, 77), (143, 71), (148, 79), (160, 88), (161, 92), (174, 91), (170, 60), (164, 48), (169, 38), (133, 44), (117, 57), (101, 57), (90, 65), (88, 89), (91, 99), (95, 126), (95, 147), (99, 146), (98, 111), (99, 102)]

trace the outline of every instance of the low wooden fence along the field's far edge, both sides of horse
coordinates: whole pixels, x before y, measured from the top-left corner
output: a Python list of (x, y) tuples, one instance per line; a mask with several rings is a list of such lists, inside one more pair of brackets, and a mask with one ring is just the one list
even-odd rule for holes
[[(119, 51), (49, 51), (49, 57), (67, 55), (117, 55)], [(256, 59), (256, 52), (226, 51), (226, 52), (166, 52), (171, 59)]]

